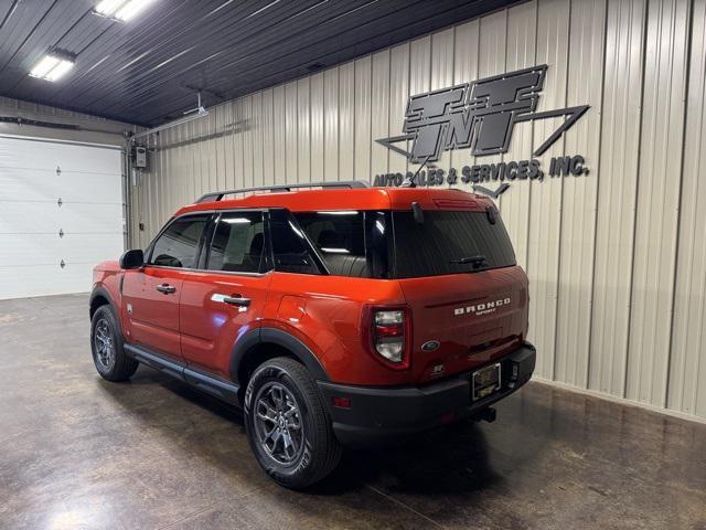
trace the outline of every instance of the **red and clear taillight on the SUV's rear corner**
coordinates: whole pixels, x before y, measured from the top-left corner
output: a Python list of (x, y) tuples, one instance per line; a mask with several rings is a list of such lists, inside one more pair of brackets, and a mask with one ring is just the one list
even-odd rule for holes
[(378, 309), (372, 311), (371, 336), (373, 350), (386, 364), (404, 369), (409, 365), (409, 318), (402, 309)]

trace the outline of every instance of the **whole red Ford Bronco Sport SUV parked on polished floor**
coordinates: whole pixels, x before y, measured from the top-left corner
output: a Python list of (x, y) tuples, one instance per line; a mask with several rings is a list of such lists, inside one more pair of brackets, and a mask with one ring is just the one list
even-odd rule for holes
[(490, 199), (459, 190), (208, 194), (94, 282), (100, 375), (142, 362), (242, 406), (259, 464), (292, 488), (344, 445), (494, 418), (535, 365), (527, 277)]

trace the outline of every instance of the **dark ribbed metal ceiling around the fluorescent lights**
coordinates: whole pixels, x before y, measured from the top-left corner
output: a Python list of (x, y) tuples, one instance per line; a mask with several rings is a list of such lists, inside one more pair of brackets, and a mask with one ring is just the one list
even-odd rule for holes
[[(516, 0), (514, 0), (516, 1)], [(156, 0), (121, 23), (98, 0), (0, 0), (0, 95), (152, 126), (463, 21), (507, 0)], [(76, 55), (56, 83), (28, 72)]]

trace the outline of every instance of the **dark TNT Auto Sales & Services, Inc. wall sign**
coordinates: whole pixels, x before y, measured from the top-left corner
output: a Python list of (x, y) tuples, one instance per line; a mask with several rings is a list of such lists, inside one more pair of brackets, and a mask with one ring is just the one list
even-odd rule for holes
[[(588, 174), (581, 155), (553, 157), (546, 173), (536, 158), (496, 163), (479, 161), (448, 170), (429, 163), (439, 160), (443, 151), (459, 148), (470, 148), (473, 157), (507, 152), (515, 125), (563, 117), (559, 126), (534, 149), (532, 157), (544, 153), (589, 109), (588, 105), (578, 105), (538, 113), (537, 103), (546, 73), (547, 65), (543, 64), (409, 97), (404, 135), (375, 141), (410, 162), (419, 163), (419, 170), (406, 174), (376, 174), (374, 184), (427, 187), (456, 186), (460, 181), (472, 184), (477, 193), (498, 199), (513, 181), (542, 182), (545, 174), (550, 178)], [(403, 141), (409, 151), (396, 145)], [(485, 182), (496, 182), (499, 187), (491, 190), (484, 187)]]

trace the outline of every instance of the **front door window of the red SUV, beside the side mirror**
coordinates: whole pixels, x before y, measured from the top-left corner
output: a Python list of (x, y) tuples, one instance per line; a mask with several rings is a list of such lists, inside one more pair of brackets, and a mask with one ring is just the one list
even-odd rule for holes
[(193, 268), (208, 218), (210, 215), (186, 215), (173, 221), (154, 241), (150, 264)]

